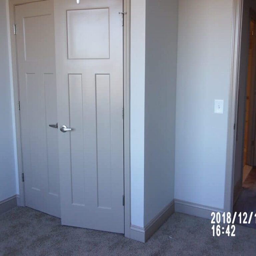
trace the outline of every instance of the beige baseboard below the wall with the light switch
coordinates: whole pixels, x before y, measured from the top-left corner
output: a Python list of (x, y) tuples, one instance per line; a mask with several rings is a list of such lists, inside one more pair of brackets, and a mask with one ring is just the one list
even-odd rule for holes
[(223, 209), (209, 207), (201, 204), (195, 204), (175, 199), (175, 212), (185, 213), (196, 217), (211, 219), (212, 212), (223, 213)]

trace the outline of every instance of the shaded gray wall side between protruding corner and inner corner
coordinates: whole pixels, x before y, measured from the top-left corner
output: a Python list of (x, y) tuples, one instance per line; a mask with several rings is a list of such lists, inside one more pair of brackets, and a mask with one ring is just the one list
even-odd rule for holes
[(178, 0), (146, 0), (144, 225), (174, 199)]

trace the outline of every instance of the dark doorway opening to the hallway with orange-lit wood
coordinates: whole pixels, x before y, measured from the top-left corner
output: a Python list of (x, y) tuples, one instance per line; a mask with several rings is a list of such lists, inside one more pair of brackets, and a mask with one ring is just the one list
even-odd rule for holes
[[(243, 154), (241, 165), (241, 188), (237, 190), (234, 198), (234, 212), (246, 212), (249, 216), (251, 212), (256, 212), (256, 14), (251, 10), (250, 33), (248, 51), (248, 74), (246, 88), (240, 88), (240, 92), (245, 90), (245, 106), (238, 107), (238, 111), (244, 111), (244, 135), (243, 135)], [(240, 100), (240, 103), (242, 101)], [(239, 121), (239, 120), (238, 120)], [(238, 140), (239, 138), (237, 138)], [(236, 162), (237, 163), (237, 162)], [(239, 168), (239, 166), (236, 166)], [(239, 188), (239, 186), (237, 186)], [(239, 220), (237, 218), (237, 223)], [(244, 224), (256, 228), (256, 224)]]

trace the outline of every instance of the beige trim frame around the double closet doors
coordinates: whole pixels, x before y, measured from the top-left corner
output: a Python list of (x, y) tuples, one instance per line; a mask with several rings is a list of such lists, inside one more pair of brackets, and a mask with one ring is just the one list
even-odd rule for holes
[[(11, 63), (10, 73), (12, 74), (13, 100), (15, 111), (15, 128), (16, 128), (16, 150), (18, 160), (18, 181), (19, 195), (17, 196), (18, 206), (25, 206), (25, 187), (22, 181), (23, 164), (22, 164), (22, 147), (21, 147), (21, 124), (19, 111), (19, 82), (18, 82), (18, 62), (16, 37), (14, 35), (15, 24), (15, 5), (40, 2), (45, 0), (9, 0), (9, 30), (11, 44)], [(130, 1), (123, 0), (124, 14), (124, 32), (123, 32), (123, 61), (124, 61), (124, 230), (125, 237), (130, 238), (131, 211), (130, 211)], [(22, 103), (21, 103), (22, 105)]]

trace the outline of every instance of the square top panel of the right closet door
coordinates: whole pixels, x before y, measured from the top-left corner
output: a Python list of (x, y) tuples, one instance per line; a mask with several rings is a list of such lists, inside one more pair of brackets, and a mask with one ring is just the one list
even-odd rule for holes
[[(69, 59), (109, 58), (108, 8), (69, 10), (67, 27)], [(84, 31), (87, 40), (84, 40)]]

